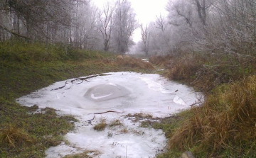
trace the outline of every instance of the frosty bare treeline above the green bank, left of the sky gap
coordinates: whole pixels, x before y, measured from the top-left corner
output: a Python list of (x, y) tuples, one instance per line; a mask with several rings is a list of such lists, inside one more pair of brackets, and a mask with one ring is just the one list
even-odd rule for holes
[(137, 26), (127, 0), (106, 3), (102, 9), (88, 0), (0, 2), (1, 41), (22, 38), (124, 54)]

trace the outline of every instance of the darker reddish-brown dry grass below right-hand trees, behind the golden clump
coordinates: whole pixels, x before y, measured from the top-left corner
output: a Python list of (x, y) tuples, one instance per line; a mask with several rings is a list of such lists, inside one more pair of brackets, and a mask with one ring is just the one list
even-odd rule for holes
[(208, 92), (215, 87), (238, 81), (256, 69), (255, 58), (235, 57), (209, 53), (181, 53), (181, 55), (167, 55), (151, 57), (152, 64), (168, 69), (166, 77), (182, 81), (194, 88)]

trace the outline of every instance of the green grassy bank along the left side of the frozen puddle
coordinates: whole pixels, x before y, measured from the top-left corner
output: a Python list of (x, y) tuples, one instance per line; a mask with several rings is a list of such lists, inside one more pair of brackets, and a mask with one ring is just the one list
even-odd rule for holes
[(7, 41), (0, 43), (0, 157), (45, 157), (45, 150), (63, 141), (75, 118), (59, 117), (52, 108), (33, 113), (15, 98), (55, 81), (104, 72), (151, 72), (153, 67), (132, 57), (74, 50), (67, 45)]

